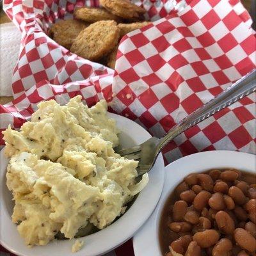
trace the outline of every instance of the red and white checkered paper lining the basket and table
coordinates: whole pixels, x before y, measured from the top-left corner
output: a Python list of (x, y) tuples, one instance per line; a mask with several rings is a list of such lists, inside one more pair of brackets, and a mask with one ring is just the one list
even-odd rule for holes
[[(136, 0), (154, 23), (126, 35), (115, 71), (84, 60), (45, 33), (75, 6), (93, 0), (4, 0), (4, 10), (22, 31), (13, 72), (15, 100), (1, 106), (1, 131), (19, 128), (41, 100), (65, 104), (83, 95), (162, 136), (174, 124), (255, 68), (252, 20), (238, 0)], [(163, 19), (160, 19), (163, 18)], [(155, 21), (156, 20), (156, 21)], [(204, 150), (255, 154), (255, 93), (180, 134), (163, 150), (167, 163)], [(0, 141), (3, 145), (3, 139)], [(131, 242), (116, 255), (132, 255)], [(142, 256), (142, 255), (141, 255)]]

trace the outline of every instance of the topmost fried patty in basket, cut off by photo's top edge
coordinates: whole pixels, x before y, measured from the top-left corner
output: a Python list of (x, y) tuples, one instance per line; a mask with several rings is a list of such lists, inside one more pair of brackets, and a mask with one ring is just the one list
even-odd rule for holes
[(100, 0), (109, 12), (128, 20), (141, 19), (146, 10), (132, 4), (129, 0)]

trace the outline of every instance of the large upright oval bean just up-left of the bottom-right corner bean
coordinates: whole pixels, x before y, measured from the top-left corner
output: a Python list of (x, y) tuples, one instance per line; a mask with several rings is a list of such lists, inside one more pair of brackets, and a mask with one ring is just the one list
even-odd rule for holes
[(219, 211), (215, 215), (218, 228), (224, 234), (232, 234), (235, 230), (234, 220), (225, 211)]

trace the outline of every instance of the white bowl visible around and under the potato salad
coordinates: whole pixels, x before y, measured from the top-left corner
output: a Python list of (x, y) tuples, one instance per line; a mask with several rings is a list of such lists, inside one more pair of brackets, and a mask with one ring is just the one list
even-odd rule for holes
[[(135, 122), (111, 113), (109, 113), (109, 116), (115, 118), (116, 125), (121, 131), (120, 143), (123, 147), (131, 147), (150, 138), (150, 134)], [(1, 244), (12, 253), (22, 256), (74, 255), (74, 253), (71, 253), (71, 248), (76, 239), (54, 240), (46, 246), (34, 246), (33, 248), (24, 245), (24, 241), (17, 231), (17, 226), (12, 223), (11, 219), (13, 203), (12, 195), (6, 186), (5, 174), (8, 160), (4, 157), (3, 150), (1, 150), (0, 157)], [(154, 211), (163, 189), (163, 182), (164, 161), (163, 156), (160, 155), (157, 157), (154, 168), (149, 173), (149, 182), (146, 188), (141, 191), (130, 209), (109, 227), (90, 236), (79, 238), (79, 240), (84, 241), (84, 246), (76, 253), (76, 256), (102, 255), (131, 238)]]

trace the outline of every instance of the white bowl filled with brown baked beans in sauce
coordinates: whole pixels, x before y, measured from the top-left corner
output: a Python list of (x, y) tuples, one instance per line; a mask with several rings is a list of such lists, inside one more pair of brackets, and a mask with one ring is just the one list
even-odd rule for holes
[(167, 166), (163, 195), (150, 218), (156, 227), (147, 227), (148, 220), (134, 238), (136, 256), (143, 229), (157, 239), (148, 256), (255, 256), (255, 168), (255, 156), (228, 151), (202, 152)]

